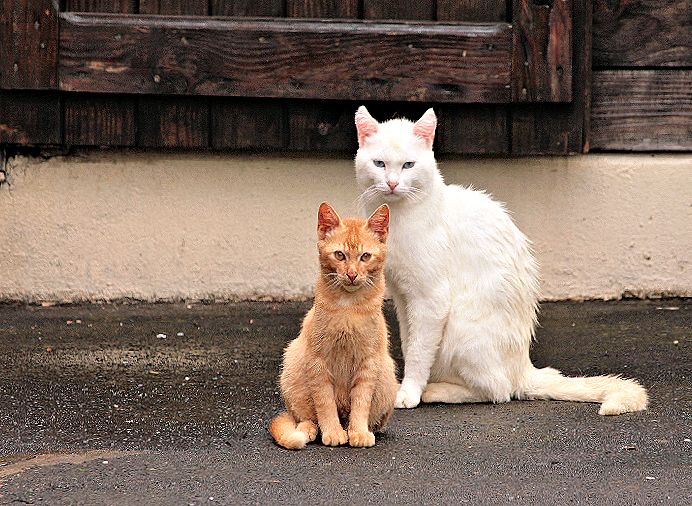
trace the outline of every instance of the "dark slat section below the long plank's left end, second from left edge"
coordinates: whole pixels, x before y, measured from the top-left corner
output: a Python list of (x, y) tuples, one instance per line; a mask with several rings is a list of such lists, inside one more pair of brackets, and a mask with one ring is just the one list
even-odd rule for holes
[(65, 144), (69, 146), (134, 146), (135, 108), (132, 97), (66, 94)]

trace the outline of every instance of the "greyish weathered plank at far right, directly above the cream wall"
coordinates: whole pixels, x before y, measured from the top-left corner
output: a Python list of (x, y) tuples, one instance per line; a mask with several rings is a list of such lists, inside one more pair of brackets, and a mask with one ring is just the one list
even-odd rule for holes
[(593, 74), (591, 148), (692, 151), (691, 70)]

